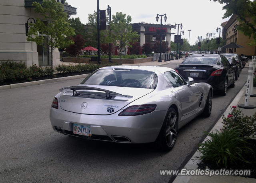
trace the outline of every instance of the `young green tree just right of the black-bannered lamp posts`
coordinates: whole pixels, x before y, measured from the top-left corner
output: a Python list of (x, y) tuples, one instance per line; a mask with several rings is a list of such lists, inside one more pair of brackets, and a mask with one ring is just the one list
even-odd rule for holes
[[(132, 47), (130, 43), (134, 43), (139, 37), (137, 32), (132, 32), (132, 26), (130, 22), (132, 18), (130, 15), (126, 17), (126, 14), (122, 12), (116, 12), (116, 15), (112, 16), (112, 21), (110, 22), (110, 29), (113, 32), (109, 38), (110, 42), (113, 42), (120, 49), (120, 63), (122, 64), (122, 48), (125, 46)], [(116, 42), (118, 41), (118, 42)]]

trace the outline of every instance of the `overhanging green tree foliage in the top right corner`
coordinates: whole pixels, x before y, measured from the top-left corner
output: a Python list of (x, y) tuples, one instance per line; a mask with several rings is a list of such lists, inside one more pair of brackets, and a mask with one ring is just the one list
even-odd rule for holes
[(256, 1), (250, 0), (213, 0), (220, 4), (225, 4), (223, 10), (226, 10), (223, 18), (228, 18), (232, 14), (237, 15), (239, 25), (237, 30), (244, 33), (245, 36), (253, 38), (249, 45), (256, 46)]

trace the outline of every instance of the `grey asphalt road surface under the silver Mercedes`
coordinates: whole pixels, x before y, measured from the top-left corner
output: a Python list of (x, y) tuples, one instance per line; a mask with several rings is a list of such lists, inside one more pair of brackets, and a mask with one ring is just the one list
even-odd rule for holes
[[(174, 61), (164, 65), (173, 68)], [(177, 61), (176, 61), (177, 62)], [(86, 141), (54, 132), (49, 119), (58, 89), (82, 79), (0, 91), (0, 182), (168, 182), (160, 170), (182, 167), (244, 85), (243, 69), (225, 97), (214, 95), (212, 115), (197, 117), (178, 133), (168, 153), (152, 144)]]

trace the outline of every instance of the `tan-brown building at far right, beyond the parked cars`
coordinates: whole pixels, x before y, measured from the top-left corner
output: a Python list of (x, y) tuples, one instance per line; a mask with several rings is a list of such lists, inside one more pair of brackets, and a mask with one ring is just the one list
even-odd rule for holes
[[(249, 39), (248, 36), (244, 36), (241, 31), (238, 31), (236, 27), (239, 25), (237, 16), (233, 14), (227, 22), (221, 24), (222, 30), (222, 38), (226, 39), (226, 44), (230, 44), (232, 42), (244, 46), (244, 48), (231, 48), (233, 53), (238, 55), (244, 54), (246, 56), (255, 56), (256, 55), (256, 46), (249, 46), (248, 43), (252, 40), (252, 37)], [(226, 50), (222, 50), (223, 52), (228, 53), (228, 48)]]

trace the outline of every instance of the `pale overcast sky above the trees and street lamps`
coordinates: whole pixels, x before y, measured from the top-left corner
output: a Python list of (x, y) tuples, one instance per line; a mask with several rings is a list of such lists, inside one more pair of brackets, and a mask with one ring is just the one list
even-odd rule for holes
[[(83, 24), (88, 22), (88, 14), (93, 14), (97, 10), (97, 0), (66, 0), (70, 6), (77, 8), (77, 14), (71, 18), (79, 17)], [(156, 24), (156, 14), (165, 14), (168, 17), (163, 24), (180, 24), (184, 35), (182, 38), (188, 39), (188, 29), (190, 31), (190, 45), (193, 45), (198, 36), (206, 38), (206, 33), (216, 33), (216, 28), (222, 27), (220, 24), (228, 20), (223, 20), (225, 10), (223, 5), (210, 0), (100, 0), (100, 10), (111, 7), (111, 14), (122, 12), (132, 17), (132, 23), (146, 22)], [(160, 18), (158, 20), (160, 24)], [(176, 30), (172, 32), (177, 34)], [(179, 30), (180, 34), (180, 30)], [(172, 41), (174, 36), (171, 37)]]

